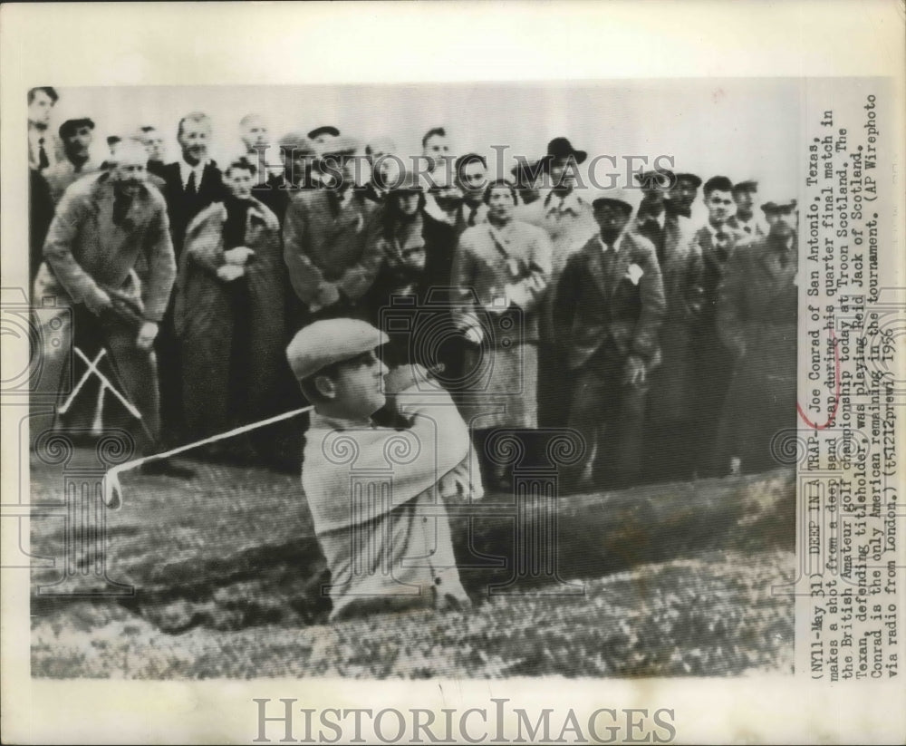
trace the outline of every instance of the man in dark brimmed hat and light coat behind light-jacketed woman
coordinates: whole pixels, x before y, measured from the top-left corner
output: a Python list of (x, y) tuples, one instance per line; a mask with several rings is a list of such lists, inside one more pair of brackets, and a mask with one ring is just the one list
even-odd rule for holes
[[(553, 247), (550, 288), (555, 288), (566, 261), (597, 231), (592, 205), (576, 189), (575, 168), (588, 157), (585, 150), (575, 150), (564, 137), (547, 145), (547, 154), (539, 160), (541, 178), (547, 189), (539, 199), (520, 208), (518, 219), (543, 228)], [(560, 385), (566, 370), (556, 354), (556, 340), (564, 329), (554, 325), (554, 290), (548, 290), (539, 309), (538, 348), (538, 420), (542, 427), (562, 427), (569, 402)]]

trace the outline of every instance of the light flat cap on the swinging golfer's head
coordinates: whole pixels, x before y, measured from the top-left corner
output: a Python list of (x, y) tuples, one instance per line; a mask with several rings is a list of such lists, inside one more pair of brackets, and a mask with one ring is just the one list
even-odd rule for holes
[(302, 381), (333, 363), (351, 360), (389, 337), (371, 324), (358, 319), (336, 318), (305, 326), (286, 348), (286, 359), (295, 377)]

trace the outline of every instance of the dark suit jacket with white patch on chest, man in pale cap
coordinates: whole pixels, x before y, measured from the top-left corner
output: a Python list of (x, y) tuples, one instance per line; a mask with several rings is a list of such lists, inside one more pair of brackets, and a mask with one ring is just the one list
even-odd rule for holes
[(590, 238), (569, 258), (560, 278), (554, 324), (567, 330), (562, 344), (572, 370), (608, 341), (622, 357), (641, 357), (649, 370), (660, 364), (658, 334), (666, 301), (654, 247), (629, 231), (616, 247), (608, 272), (599, 237)]

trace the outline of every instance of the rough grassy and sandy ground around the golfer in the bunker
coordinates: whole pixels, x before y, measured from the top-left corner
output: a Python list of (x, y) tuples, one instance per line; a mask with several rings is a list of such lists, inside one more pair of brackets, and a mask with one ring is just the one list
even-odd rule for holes
[[(580, 595), (517, 587), (507, 596), (476, 593), (476, 606), (460, 612), (327, 625), (328, 606), (313, 592), (323, 560), (297, 478), (195, 466), (198, 476), (188, 482), (124, 480), (122, 509), (107, 513), (104, 555), (107, 577), (126, 590), (90, 571), (97, 567), (91, 542), (71, 551), (74, 572), (64, 577), (63, 547), (72, 543), (65, 539), (65, 511), (49, 509), (47, 518), (33, 520), (33, 551), (57, 557), (55, 567), (32, 574), (34, 676), (792, 672), (793, 600), (772, 593), (795, 569), (787, 474), (637, 488), (601, 496), (601, 510), (595, 496), (564, 503), (562, 528), (565, 521), (565, 530), (573, 530), (571, 520), (592, 528), (573, 542), (573, 552), (588, 562), (567, 555), (561, 566), (564, 579), (582, 586)], [(33, 502), (59, 502), (62, 488), (58, 467), (33, 464)], [(641, 547), (618, 552), (622, 563), (608, 564), (588, 549), (598, 541), (595, 521), (609, 525), (607, 516), (622, 515), (627, 503), (644, 506), (650, 524), (670, 523), (670, 532), (659, 535), (652, 525), (647, 543), (634, 534), (601, 533), (605, 559), (624, 542)], [(705, 529), (692, 532), (693, 524)], [(53, 585), (61, 579), (66, 584)], [(65, 588), (123, 595), (53, 596)]]

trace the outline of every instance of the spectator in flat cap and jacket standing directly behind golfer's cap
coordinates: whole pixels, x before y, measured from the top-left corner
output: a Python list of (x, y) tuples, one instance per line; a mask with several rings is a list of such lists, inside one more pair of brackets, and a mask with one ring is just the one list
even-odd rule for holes
[(351, 138), (333, 140), (323, 153), (323, 188), (294, 194), (286, 209), (284, 259), (311, 320), (367, 315), (358, 301), (381, 266), (378, 206), (354, 189), (358, 150)]

